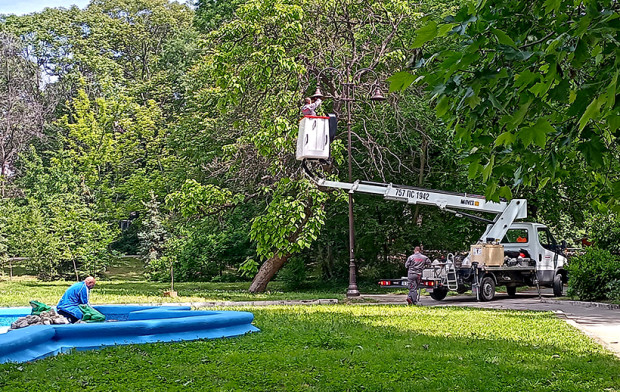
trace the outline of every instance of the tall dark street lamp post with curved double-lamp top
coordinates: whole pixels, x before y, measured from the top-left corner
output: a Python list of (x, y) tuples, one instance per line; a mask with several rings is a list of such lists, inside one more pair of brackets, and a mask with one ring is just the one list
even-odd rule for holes
[[(353, 159), (351, 157), (351, 113), (353, 111), (353, 101), (355, 100), (355, 81), (360, 81), (362, 75), (367, 72), (371, 72), (375, 75), (376, 73), (370, 68), (361, 69), (353, 74), (351, 77), (351, 70), (349, 67), (346, 69), (346, 81), (342, 81), (343, 74), (335, 68), (325, 68), (317, 77), (317, 94), (320, 94), (319, 84), (321, 83), (321, 74), (324, 71), (331, 71), (334, 74), (338, 75), (340, 84), (342, 85), (342, 95), (339, 98), (341, 101), (345, 102), (346, 110), (347, 110), (347, 157), (349, 164), (349, 182), (353, 181)], [(381, 90), (377, 82), (372, 84), (374, 87), (374, 93), (370, 97), (371, 101), (383, 101), (385, 98), (381, 94)], [(315, 94), (315, 96), (317, 95)], [(355, 264), (355, 225), (353, 221), (353, 191), (349, 191), (349, 287), (347, 288), (347, 297), (359, 297), (360, 292), (357, 288), (357, 268)]]

